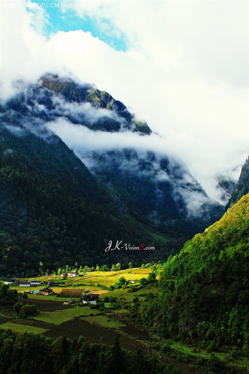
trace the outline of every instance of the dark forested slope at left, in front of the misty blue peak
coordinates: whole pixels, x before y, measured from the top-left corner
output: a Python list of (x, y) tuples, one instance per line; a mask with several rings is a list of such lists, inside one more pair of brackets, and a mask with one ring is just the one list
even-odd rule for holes
[[(154, 257), (163, 256), (165, 237), (157, 241), (123, 214), (115, 197), (58, 137), (48, 143), (11, 126), (18, 136), (0, 127), (1, 276), (31, 276), (77, 261), (96, 265), (137, 259), (126, 251), (106, 253), (110, 239), (140, 243), (142, 238), (157, 247)], [(149, 253), (139, 255), (138, 262), (146, 261)]]

